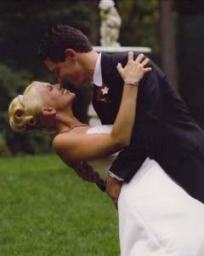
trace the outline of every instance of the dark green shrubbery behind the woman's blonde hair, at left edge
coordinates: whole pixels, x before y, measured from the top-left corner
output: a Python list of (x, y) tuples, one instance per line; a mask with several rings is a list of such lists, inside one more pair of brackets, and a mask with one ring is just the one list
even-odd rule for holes
[(0, 84), (3, 91), (0, 95), (0, 155), (9, 152), (34, 154), (42, 150), (50, 151), (48, 137), (42, 137), (37, 132), (31, 136), (16, 134), (8, 125), (8, 102), (22, 92), (22, 84), (30, 83), (30, 77), (30, 73), (24, 71), (14, 73), (9, 67), (0, 65)]

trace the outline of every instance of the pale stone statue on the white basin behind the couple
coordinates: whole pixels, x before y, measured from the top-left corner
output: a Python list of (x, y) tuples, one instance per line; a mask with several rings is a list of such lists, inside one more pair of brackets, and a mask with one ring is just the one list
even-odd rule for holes
[(100, 44), (101, 46), (119, 47), (121, 44), (117, 42), (119, 31), (122, 24), (120, 15), (118, 14), (115, 3), (112, 0), (100, 0)]

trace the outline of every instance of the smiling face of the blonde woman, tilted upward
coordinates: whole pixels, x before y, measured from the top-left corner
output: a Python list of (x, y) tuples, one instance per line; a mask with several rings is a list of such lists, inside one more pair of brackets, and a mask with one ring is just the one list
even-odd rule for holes
[(39, 83), (34, 86), (48, 107), (56, 110), (71, 108), (75, 94), (62, 88), (61, 84)]

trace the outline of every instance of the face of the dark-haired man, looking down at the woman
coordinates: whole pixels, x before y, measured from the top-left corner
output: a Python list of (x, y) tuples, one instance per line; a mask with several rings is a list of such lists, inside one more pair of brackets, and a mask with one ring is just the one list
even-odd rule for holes
[(47, 58), (44, 62), (48, 69), (57, 77), (59, 84), (69, 82), (75, 84), (76, 87), (81, 87), (87, 79), (85, 70), (77, 60), (66, 57), (65, 61), (55, 63)]

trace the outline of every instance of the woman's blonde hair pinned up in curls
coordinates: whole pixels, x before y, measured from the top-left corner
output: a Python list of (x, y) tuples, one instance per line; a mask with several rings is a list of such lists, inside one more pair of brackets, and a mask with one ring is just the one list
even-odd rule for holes
[(41, 82), (34, 81), (26, 87), (22, 102), (16, 96), (8, 108), (9, 124), (14, 131), (25, 133), (29, 130), (41, 130), (45, 133), (54, 132), (54, 124), (50, 119), (42, 116), (42, 108), (46, 106), (42, 97), (37, 93), (34, 85)]

